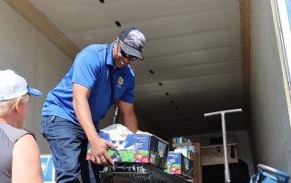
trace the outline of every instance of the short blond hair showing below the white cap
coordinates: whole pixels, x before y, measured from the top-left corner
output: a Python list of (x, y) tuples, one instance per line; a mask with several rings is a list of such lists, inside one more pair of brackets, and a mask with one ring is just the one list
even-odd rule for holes
[[(0, 116), (5, 116), (11, 110), (15, 108), (15, 104), (18, 97), (15, 99), (7, 100), (7, 101), (0, 101)], [(26, 93), (20, 97), (20, 102), (26, 103), (29, 101), (29, 94)]]

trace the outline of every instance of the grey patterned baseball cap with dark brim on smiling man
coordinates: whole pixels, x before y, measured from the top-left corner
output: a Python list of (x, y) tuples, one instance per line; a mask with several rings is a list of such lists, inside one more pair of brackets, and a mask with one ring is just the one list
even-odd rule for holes
[(144, 60), (142, 52), (146, 44), (146, 37), (139, 29), (125, 29), (118, 38), (120, 47), (125, 53)]

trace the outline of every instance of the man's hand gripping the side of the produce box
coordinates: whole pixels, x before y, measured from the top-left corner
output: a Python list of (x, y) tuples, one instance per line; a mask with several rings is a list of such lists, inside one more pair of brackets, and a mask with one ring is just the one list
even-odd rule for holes
[(102, 138), (96, 138), (95, 140), (89, 141), (93, 158), (91, 159), (95, 164), (99, 165), (114, 165), (115, 161), (110, 158), (107, 148), (115, 148), (115, 144)]

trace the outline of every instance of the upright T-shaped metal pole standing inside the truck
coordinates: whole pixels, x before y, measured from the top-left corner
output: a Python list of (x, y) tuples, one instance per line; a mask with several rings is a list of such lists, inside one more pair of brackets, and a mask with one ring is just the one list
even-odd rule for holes
[(225, 182), (230, 182), (230, 175), (229, 175), (229, 167), (228, 167), (228, 159), (227, 159), (227, 138), (226, 138), (226, 113), (233, 113), (242, 111), (242, 109), (236, 109), (236, 110), (227, 110), (227, 111), (216, 111), (211, 113), (204, 114), (205, 117), (208, 116), (214, 116), (217, 114), (221, 115), (221, 126), (222, 126), (222, 136), (223, 136), (223, 143), (224, 143), (224, 159), (225, 159)]

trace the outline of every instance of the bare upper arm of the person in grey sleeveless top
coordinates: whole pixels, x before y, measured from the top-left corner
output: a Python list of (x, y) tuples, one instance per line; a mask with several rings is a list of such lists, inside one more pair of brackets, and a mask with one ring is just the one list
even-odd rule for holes
[(39, 149), (35, 138), (31, 134), (26, 134), (15, 142), (12, 155), (11, 182), (44, 182)]

